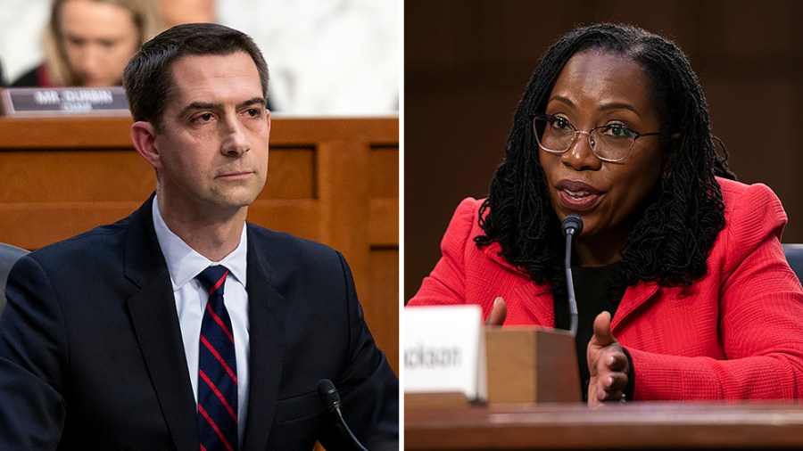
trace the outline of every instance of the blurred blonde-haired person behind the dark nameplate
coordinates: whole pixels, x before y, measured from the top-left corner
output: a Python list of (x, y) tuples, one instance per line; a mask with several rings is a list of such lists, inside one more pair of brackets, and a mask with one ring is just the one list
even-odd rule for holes
[(152, 0), (54, 0), (44, 61), (11, 86), (120, 86), (139, 47), (161, 31)]

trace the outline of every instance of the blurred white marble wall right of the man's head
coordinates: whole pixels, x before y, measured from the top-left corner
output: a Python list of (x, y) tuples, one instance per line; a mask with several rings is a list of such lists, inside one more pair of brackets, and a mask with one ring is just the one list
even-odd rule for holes
[(293, 115), (399, 110), (399, 0), (217, 0), (271, 61), (270, 101)]

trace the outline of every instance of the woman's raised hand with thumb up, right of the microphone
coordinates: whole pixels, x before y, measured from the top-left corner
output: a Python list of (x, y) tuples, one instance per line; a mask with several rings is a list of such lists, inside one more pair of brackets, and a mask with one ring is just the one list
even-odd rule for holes
[(625, 400), (627, 373), (630, 364), (625, 351), (610, 332), (610, 314), (602, 312), (594, 319), (594, 335), (586, 351), (591, 380), (588, 384), (588, 405)]

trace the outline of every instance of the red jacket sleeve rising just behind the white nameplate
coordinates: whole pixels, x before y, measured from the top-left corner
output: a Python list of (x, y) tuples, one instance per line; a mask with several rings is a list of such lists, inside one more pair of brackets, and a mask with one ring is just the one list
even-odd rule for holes
[(471, 230), (478, 218), (480, 201), (460, 202), (441, 241), (442, 256), (432, 273), (424, 278), (408, 306), (437, 306), (466, 303), (465, 253), (474, 246)]

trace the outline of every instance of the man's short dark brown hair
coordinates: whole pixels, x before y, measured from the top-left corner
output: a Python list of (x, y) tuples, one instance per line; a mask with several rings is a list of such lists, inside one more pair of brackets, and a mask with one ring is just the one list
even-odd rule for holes
[(244, 52), (251, 56), (260, 74), (262, 95), (268, 98), (268, 64), (251, 37), (215, 23), (187, 23), (153, 37), (128, 61), (123, 71), (128, 108), (134, 120), (145, 120), (161, 129), (164, 111), (175, 83), (170, 68), (189, 55), (228, 55)]

